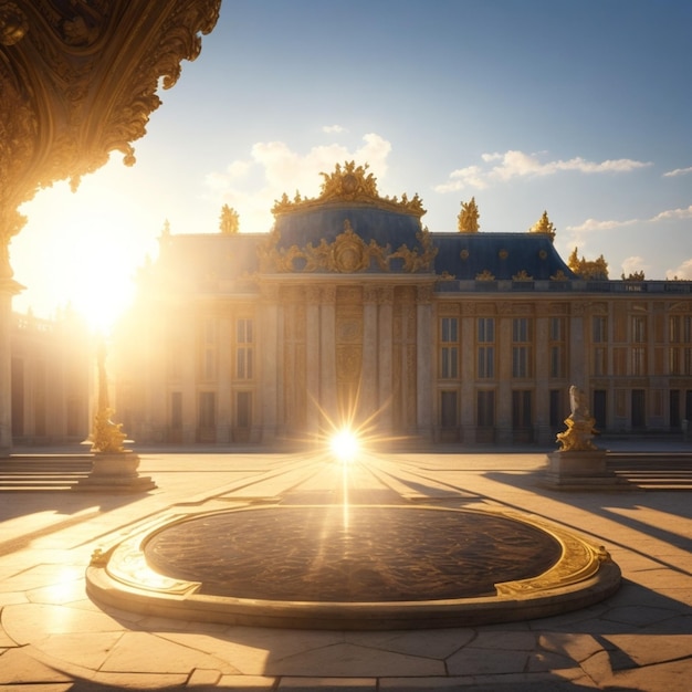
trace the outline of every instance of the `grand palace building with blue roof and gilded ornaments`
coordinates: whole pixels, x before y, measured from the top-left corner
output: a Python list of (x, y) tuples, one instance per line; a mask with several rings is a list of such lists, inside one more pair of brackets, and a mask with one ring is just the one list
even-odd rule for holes
[(286, 196), (270, 233), (160, 238), (113, 347), (137, 442), (268, 443), (361, 427), (549, 444), (584, 389), (602, 432), (692, 418), (692, 282), (574, 273), (547, 214), (528, 232), (430, 232), (367, 166)]

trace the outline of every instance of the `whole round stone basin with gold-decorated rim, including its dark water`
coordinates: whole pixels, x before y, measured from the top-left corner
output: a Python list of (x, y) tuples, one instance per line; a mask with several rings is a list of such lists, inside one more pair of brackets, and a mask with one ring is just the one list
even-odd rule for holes
[(161, 520), (95, 551), (86, 589), (188, 621), (332, 630), (473, 627), (614, 594), (602, 546), (515, 513), (258, 506)]

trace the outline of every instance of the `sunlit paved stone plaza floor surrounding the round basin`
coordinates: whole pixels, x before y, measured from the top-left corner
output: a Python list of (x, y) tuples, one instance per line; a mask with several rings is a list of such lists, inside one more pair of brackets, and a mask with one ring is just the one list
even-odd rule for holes
[[(337, 464), (298, 453), (141, 452), (140, 472), (158, 486), (147, 493), (0, 493), (0, 688), (690, 689), (689, 491), (558, 492), (538, 483), (544, 453), (443, 451), (358, 464), (350, 501), (527, 513), (604, 545), (620, 589), (554, 617), (433, 630), (270, 629), (107, 607), (86, 595), (91, 556), (143, 526), (200, 508), (318, 505), (343, 492)], [(266, 559), (276, 554), (272, 545)]]

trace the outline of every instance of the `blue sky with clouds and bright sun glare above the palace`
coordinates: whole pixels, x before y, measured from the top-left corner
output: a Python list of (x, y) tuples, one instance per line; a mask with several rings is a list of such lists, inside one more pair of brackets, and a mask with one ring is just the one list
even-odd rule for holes
[(15, 308), (109, 313), (166, 220), (216, 232), (228, 203), (269, 231), (275, 199), (352, 159), (418, 192), (432, 232), (475, 197), (483, 232), (547, 210), (565, 259), (692, 279), (691, 35), (689, 0), (224, 0), (137, 164), (24, 205)]

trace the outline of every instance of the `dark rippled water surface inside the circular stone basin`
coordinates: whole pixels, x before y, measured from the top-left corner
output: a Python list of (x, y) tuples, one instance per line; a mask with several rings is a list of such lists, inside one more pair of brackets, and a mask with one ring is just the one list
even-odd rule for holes
[(297, 506), (209, 514), (145, 545), (159, 574), (198, 594), (281, 601), (494, 596), (560, 558), (552, 535), (506, 516), (398, 506)]

